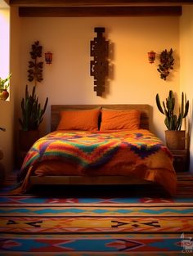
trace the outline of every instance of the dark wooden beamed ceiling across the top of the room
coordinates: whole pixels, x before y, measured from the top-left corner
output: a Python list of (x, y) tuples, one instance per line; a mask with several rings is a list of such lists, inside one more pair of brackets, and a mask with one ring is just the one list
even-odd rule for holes
[(10, 0), (9, 4), (19, 7), (19, 16), (181, 16), (182, 5), (193, 0)]

